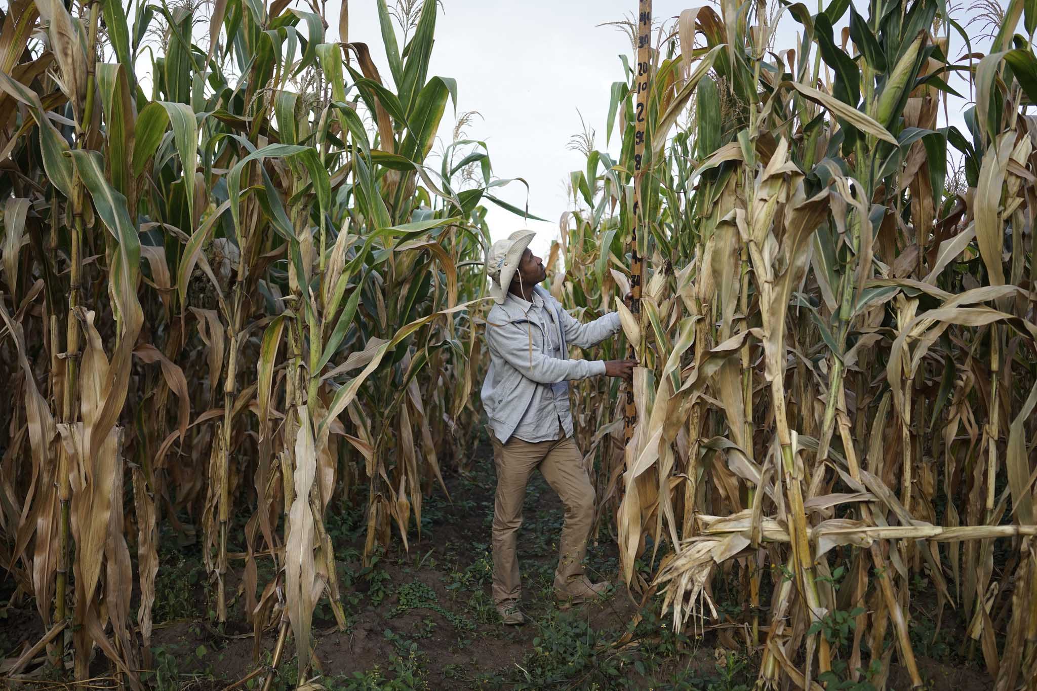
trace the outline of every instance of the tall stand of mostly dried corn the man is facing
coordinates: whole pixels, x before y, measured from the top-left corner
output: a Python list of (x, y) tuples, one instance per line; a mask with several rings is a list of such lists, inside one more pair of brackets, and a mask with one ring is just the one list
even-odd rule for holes
[[(1022, 479), (1034, 468), (1035, 322), (1020, 281), (1033, 265), (1026, 109), (1037, 61), (1025, 36), (1007, 50), (1022, 5), (1010, 4), (994, 50), (972, 67), (966, 134), (937, 125), (951, 88), (940, 76), (969, 65), (948, 57), (968, 38), (935, 3), (887, 3), (867, 18), (852, 5), (790, 6), (795, 53), (772, 45), (774, 8), (742, 9), (686, 10), (655, 47), (645, 175), (655, 183), (638, 188), (649, 220), (644, 320), (627, 340), (644, 339), (657, 359), (639, 373), (625, 463), (597, 451), (607, 443), (592, 448), (618, 511), (622, 576), (661, 591), (679, 628), (720, 616), (712, 585), (738, 574), (750, 606), (735, 621), (759, 640), (766, 688), (839, 674), (881, 687), (894, 655), (920, 685), (909, 607), (924, 576), (937, 618), (953, 607), (965, 653), (1013, 688), (1034, 674), (1032, 658), (993, 622), (1033, 622), (1001, 591), (992, 550), (1008, 544), (1015, 577), (1032, 579)], [(833, 27), (847, 20), (851, 42), (840, 45)], [(587, 210), (566, 218), (565, 264), (596, 270), (567, 271), (578, 285), (558, 294), (571, 309), (588, 307), (577, 296), (607, 304), (627, 280), (605, 269), (619, 268), (629, 239), (616, 230), (614, 178), (635, 162), (637, 80), (612, 89), (618, 166), (588, 151), (588, 170), (573, 173)], [(597, 257), (581, 254), (587, 238)], [(622, 403), (578, 392), (576, 408)], [(608, 419), (595, 424), (618, 438)], [(1009, 510), (1017, 503), (1021, 514)], [(716, 534), (714, 521), (731, 529)], [(768, 521), (782, 526), (780, 545)], [(825, 633), (838, 610), (851, 612), (851, 640)]]

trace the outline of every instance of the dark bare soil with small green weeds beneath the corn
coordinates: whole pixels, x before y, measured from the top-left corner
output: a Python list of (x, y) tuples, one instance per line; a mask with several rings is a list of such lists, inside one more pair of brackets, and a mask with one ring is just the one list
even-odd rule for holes
[[(728, 650), (730, 638), (706, 632), (696, 637), (673, 634), (661, 621), (657, 603), (639, 607), (625, 588), (601, 603), (562, 610), (552, 597), (562, 508), (536, 474), (525, 505), (520, 558), (525, 587), (524, 610), (530, 624), (500, 624), (489, 595), (489, 526), (496, 479), (488, 448), (479, 450), (473, 472), (451, 474), (448, 501), (441, 491), (425, 500), (421, 536), (410, 535), (410, 549), (381, 554), (363, 567), (364, 525), (357, 510), (329, 520), (347, 626), (340, 631), (327, 601), (313, 625), (319, 683), (329, 689), (702, 689), (752, 688), (757, 660)], [(261, 641), (258, 662), (242, 612), (241, 598), (223, 632), (208, 621), (204, 572), (197, 544), (163, 536), (166, 550), (156, 602), (148, 684), (158, 689), (224, 689), (258, 665), (270, 665), (276, 632)], [(398, 542), (398, 541), (397, 541)], [(597, 580), (617, 581), (615, 543), (602, 529), (592, 545), (588, 569)], [(647, 572), (648, 565), (645, 565)], [(235, 574), (236, 577), (237, 574)], [(260, 582), (269, 578), (260, 573)], [(228, 593), (237, 581), (228, 582)], [(0, 659), (41, 635), (31, 602), (7, 602), (13, 584), (0, 585)], [(720, 602), (722, 594), (716, 594)], [(6, 606), (3, 606), (6, 602)], [(723, 604), (723, 603), (722, 603)], [(737, 611), (741, 603), (727, 606)], [(918, 617), (919, 612), (913, 612)], [(924, 617), (920, 627), (926, 625)], [(931, 623), (928, 623), (931, 626)], [(624, 633), (626, 646), (615, 645)], [(928, 629), (919, 631), (927, 639)], [(734, 647), (734, 646), (732, 646)], [(924, 655), (930, 653), (940, 659)], [(989, 676), (975, 663), (955, 659), (950, 645), (920, 652), (928, 689), (980, 691)], [(99, 678), (108, 673), (103, 656), (94, 660)], [(53, 671), (37, 670), (43, 681)], [(295, 649), (290, 642), (275, 670), (274, 688), (292, 688)], [(240, 688), (258, 689), (261, 676)], [(896, 664), (888, 688), (907, 689), (909, 679)], [(25, 688), (32, 688), (26, 684)], [(833, 688), (830, 686), (830, 688)], [(839, 686), (867, 691), (866, 685)]]

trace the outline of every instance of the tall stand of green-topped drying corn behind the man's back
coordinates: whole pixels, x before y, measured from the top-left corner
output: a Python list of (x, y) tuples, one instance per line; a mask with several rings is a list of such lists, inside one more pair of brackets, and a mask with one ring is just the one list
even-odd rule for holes
[(317, 600), (345, 626), (329, 512), (366, 509), (368, 556), (393, 524), (405, 545), (476, 434), (485, 204), (517, 209), (485, 145), (432, 165), (457, 100), (428, 73), (437, 3), (402, 54), (380, 3), (386, 79), (346, 3), (337, 38), (288, 3), (218, 2), (201, 31), (135, 9), (0, 22), (4, 562), (48, 631), (33, 656), (68, 638), (77, 680), (100, 650), (136, 688), (159, 528), (200, 538), (213, 620), (243, 615), (257, 662), (290, 631), (305, 679)]

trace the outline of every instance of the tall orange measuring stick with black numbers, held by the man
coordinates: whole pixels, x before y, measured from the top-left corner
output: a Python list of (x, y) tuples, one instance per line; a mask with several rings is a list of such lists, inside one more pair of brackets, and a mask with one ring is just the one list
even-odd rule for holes
[[(634, 225), (630, 227), (630, 312), (641, 322), (641, 283), (644, 278), (644, 263), (638, 250), (638, 238), (647, 231), (641, 213), (641, 161), (645, 151), (645, 120), (648, 112), (648, 71), (651, 67), (651, 0), (638, 2), (638, 66), (637, 66), (637, 110), (634, 118)], [(640, 232), (640, 235), (639, 235)], [(644, 238), (642, 238), (644, 239)], [(642, 324), (643, 330), (643, 324)], [(644, 363), (644, 337), (641, 343), (629, 344), (628, 357)], [(638, 424), (638, 407), (634, 402), (634, 384), (626, 385), (626, 410), (623, 414), (623, 442), (629, 443), (634, 427)]]

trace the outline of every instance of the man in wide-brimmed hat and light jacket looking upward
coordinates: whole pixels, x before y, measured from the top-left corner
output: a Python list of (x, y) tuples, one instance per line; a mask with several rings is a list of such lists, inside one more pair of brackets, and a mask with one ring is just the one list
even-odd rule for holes
[(497, 303), (486, 317), (489, 370), (482, 405), (489, 418), (497, 497), (494, 507), (494, 600), (505, 624), (525, 624), (518, 609), (522, 581), (515, 542), (522, 525), (526, 484), (536, 468), (565, 506), (559, 541), (555, 597), (586, 602), (602, 595), (608, 581), (585, 575), (594, 486), (572, 439), (569, 379), (612, 376), (629, 379), (636, 363), (569, 359), (568, 346), (589, 348), (620, 330), (618, 313), (589, 323), (573, 319), (546, 290), (543, 260), (529, 250), (534, 233), (520, 230), (489, 250), (489, 292)]

